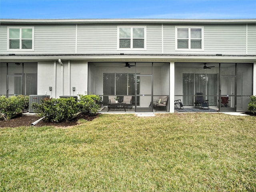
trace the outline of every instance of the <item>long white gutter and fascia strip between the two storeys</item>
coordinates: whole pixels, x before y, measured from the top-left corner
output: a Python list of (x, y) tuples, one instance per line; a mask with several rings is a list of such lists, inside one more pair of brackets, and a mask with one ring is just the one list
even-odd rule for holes
[[(59, 64), (63, 67), (63, 63), (61, 59), (59, 59), (60, 55), (0, 55), (1, 62), (12, 62), (22, 60), (33, 60), (38, 62), (39, 60), (46, 61), (46, 60), (58, 60)], [(160, 61), (175, 61), (180, 62), (181, 60), (186, 61), (194, 61), (194, 60), (213, 60), (213, 61), (237, 61), (242, 60), (246, 62), (256, 62), (256, 55), (228, 55), (222, 54), (222, 56), (216, 56), (216, 54), (206, 54), (206, 55), (199, 55), (199, 54), (74, 54), (74, 55), (61, 55), (62, 59), (64, 60), (90, 60), (90, 62), (106, 62), (106, 60), (111, 60), (111, 62), (122, 62), (127, 61), (128, 59), (132, 60), (143, 60), (143, 61), (152, 61), (158, 60)]]

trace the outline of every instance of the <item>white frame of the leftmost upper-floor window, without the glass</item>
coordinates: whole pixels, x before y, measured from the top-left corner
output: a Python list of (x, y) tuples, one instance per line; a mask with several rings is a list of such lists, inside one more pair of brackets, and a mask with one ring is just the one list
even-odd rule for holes
[[(10, 48), (10, 29), (20, 29), (20, 48), (11, 49)], [(32, 48), (31, 49), (22, 49), (22, 29), (32, 29)], [(7, 27), (7, 51), (34, 51), (34, 26), (8, 26)], [(23, 39), (24, 40), (24, 39)]]

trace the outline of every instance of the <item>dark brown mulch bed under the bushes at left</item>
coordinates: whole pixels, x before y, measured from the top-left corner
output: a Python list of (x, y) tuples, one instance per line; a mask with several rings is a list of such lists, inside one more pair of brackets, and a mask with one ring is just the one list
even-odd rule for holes
[[(94, 118), (97, 118), (99, 114), (96, 116), (87, 116), (83, 114), (79, 114), (77, 117), (74, 119), (68, 121), (68, 122), (59, 122), (59, 123), (54, 123), (54, 122), (46, 122), (46, 121), (40, 121), (38, 122), (35, 126), (36, 127), (41, 127), (41, 126), (58, 126), (58, 127), (67, 127), (67, 126), (74, 126), (78, 124), (79, 119), (86, 119), (88, 121), (93, 120)], [(40, 119), (40, 117), (37, 117), (36, 115), (21, 115), (18, 116), (14, 119), (4, 121), (0, 120), (0, 127), (19, 127), (19, 126), (31, 126), (33, 122), (36, 120)]]

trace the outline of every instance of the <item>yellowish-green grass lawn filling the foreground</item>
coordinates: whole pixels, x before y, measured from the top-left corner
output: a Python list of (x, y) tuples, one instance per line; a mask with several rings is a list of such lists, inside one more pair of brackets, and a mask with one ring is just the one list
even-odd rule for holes
[(256, 191), (256, 117), (103, 114), (0, 128), (0, 191)]

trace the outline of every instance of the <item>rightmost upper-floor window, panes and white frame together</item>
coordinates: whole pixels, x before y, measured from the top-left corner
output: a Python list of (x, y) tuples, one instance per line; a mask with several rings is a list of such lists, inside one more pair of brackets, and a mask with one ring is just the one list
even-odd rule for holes
[(203, 34), (203, 27), (176, 26), (176, 50), (204, 50)]

